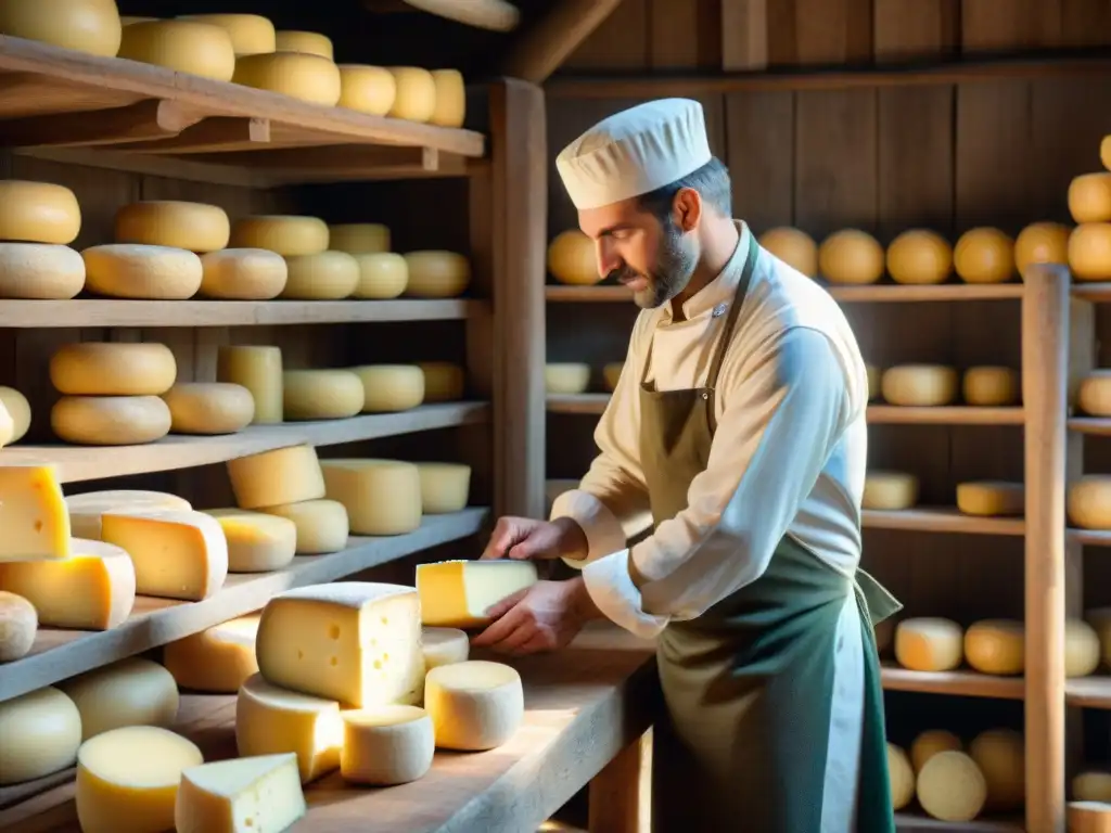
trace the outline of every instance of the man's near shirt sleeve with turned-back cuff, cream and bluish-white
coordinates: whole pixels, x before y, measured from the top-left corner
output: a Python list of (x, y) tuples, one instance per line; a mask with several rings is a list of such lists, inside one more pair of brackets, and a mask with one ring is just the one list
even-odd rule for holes
[(723, 411), (688, 508), (583, 569), (599, 610), (651, 638), (759, 579), (848, 424), (847, 379), (829, 339), (802, 327), (723, 368)]

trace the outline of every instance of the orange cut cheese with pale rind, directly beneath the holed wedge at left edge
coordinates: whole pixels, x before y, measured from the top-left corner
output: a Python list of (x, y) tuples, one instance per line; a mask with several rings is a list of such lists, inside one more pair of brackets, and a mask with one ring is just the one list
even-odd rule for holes
[(136, 602), (131, 556), (102, 541), (74, 539), (70, 550), (61, 561), (0, 564), (0, 590), (30, 601), (39, 622), (51, 628), (108, 631), (122, 624)]

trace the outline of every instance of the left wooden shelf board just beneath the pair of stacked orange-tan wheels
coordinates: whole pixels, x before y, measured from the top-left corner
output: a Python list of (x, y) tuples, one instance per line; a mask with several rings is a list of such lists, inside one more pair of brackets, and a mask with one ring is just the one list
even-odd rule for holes
[(171, 434), (146, 445), (9, 445), (0, 465), (54, 463), (64, 483), (222, 463), (288, 445), (339, 445), (359, 440), (411, 434), (490, 419), (486, 402), (421, 405), (399, 413), (367, 414), (347, 420), (249, 425), (234, 434)]

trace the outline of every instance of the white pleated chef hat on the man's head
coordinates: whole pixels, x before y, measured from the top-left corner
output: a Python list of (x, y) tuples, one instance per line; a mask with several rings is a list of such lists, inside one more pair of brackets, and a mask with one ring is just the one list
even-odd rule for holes
[(598, 122), (560, 152), (556, 168), (582, 210), (654, 191), (712, 158), (702, 106), (658, 99)]

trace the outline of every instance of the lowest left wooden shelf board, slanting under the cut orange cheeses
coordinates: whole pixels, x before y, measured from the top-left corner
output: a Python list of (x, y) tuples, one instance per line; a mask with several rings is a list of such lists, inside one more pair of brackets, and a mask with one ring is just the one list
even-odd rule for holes
[(420, 529), (408, 535), (352, 536), (346, 550), (300, 555), (278, 572), (232, 573), (219, 593), (202, 602), (140, 596), (128, 621), (111, 631), (43, 629), (30, 654), (0, 666), (0, 702), (259, 610), (291, 588), (334, 581), (467, 538), (479, 531), (486, 516), (486, 509), (467, 509), (426, 515)]

